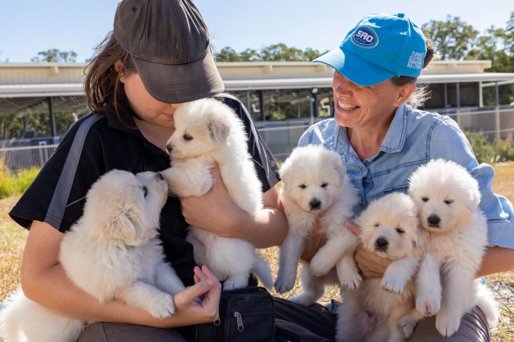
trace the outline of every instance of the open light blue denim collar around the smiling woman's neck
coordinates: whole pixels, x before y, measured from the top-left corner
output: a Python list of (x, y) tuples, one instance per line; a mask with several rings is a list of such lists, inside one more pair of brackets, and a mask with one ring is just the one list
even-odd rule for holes
[[(401, 151), (407, 135), (407, 109), (408, 107), (405, 104), (396, 108), (391, 125), (384, 137), (382, 145), (378, 149), (379, 153), (364, 160), (364, 164), (366, 161), (375, 159), (380, 152), (394, 153)], [(354, 151), (353, 147), (350, 145), (350, 139), (348, 139), (348, 135), (346, 134), (346, 127), (342, 127), (337, 124), (336, 127), (336, 134), (334, 136), (336, 140), (336, 150), (342, 153), (345, 163), (352, 163), (361, 167), (363, 163)], [(329, 143), (329, 140), (331, 139), (326, 140), (325, 144)]]

